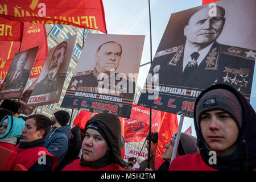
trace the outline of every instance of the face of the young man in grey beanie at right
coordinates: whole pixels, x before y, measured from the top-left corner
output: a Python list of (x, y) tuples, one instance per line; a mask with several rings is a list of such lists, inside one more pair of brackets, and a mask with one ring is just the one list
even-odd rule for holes
[(236, 121), (226, 111), (205, 112), (200, 118), (200, 128), (205, 142), (218, 155), (236, 151), (239, 129)]

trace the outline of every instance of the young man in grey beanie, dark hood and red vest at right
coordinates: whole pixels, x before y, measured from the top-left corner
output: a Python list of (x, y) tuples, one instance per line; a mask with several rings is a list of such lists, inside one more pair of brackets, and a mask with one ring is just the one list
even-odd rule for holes
[(195, 102), (200, 154), (174, 159), (170, 171), (255, 171), (255, 118), (249, 101), (232, 86), (210, 86)]

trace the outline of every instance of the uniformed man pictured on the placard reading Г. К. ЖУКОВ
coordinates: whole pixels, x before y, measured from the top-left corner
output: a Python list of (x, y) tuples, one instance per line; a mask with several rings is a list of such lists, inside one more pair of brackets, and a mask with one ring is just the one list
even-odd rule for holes
[(116, 71), (119, 66), (122, 67), (122, 52), (123, 48), (118, 42), (100, 44), (94, 55), (94, 68), (73, 76), (68, 89), (133, 97), (135, 80)]

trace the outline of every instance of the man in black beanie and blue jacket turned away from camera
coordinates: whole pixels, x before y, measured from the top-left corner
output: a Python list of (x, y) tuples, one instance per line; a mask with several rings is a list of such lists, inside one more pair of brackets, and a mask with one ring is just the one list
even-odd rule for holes
[(67, 125), (69, 118), (67, 111), (56, 111), (51, 117), (52, 129), (45, 138), (47, 150), (59, 159), (55, 170), (68, 151), (68, 141), (71, 137), (71, 127)]

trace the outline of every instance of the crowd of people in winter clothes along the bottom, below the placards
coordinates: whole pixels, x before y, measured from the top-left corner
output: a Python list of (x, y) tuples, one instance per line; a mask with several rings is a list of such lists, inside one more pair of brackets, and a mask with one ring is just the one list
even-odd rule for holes
[[(13, 100), (0, 105), (0, 146), (16, 153), (10, 170), (22, 164), (28, 171), (179, 171), (255, 170), (256, 114), (240, 92), (229, 85), (205, 89), (195, 102), (194, 124), (197, 138), (181, 133), (177, 154), (171, 162), (177, 133), (163, 153), (165, 162), (155, 169), (158, 133), (148, 133), (148, 159), (122, 160), (125, 139), (116, 115), (100, 113), (84, 130), (67, 125), (67, 111), (51, 118), (42, 114), (20, 118), (24, 106)], [(81, 134), (82, 133), (82, 134)], [(81, 149), (81, 155), (80, 155)], [(170, 165), (171, 162), (171, 165)]]

